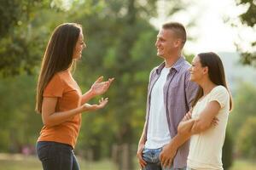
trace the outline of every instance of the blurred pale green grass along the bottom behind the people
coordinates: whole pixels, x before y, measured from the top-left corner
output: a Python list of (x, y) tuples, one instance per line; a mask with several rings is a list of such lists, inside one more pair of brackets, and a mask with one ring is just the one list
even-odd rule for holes
[[(117, 170), (109, 160), (85, 161), (79, 159), (81, 170)], [(135, 166), (137, 169), (137, 165)], [(2, 170), (41, 170), (41, 163), (36, 156), (0, 154), (0, 169)], [(230, 170), (256, 170), (256, 162), (236, 160)]]

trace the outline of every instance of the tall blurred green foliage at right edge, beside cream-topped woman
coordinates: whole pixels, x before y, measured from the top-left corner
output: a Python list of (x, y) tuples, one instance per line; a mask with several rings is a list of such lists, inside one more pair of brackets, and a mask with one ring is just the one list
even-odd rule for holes
[[(256, 88), (253, 84), (241, 83), (234, 96), (234, 109), (230, 113), (229, 129), (234, 134), (238, 156), (255, 156), (255, 111)], [(251, 129), (250, 129), (251, 128)]]

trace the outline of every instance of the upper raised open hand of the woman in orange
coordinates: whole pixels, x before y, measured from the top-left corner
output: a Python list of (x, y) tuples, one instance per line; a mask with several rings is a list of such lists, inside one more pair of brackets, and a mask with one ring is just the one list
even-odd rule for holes
[(99, 78), (96, 80), (96, 82), (94, 82), (94, 83), (92, 84), (92, 86), (91, 86), (91, 88), (90, 88), (90, 91), (91, 91), (92, 94), (94, 94), (94, 95), (101, 95), (101, 94), (104, 94), (104, 93), (108, 90), (108, 88), (109, 88), (111, 82), (113, 82), (113, 79), (114, 79), (114, 78), (108, 78), (108, 81), (102, 82), (103, 77), (99, 77)]

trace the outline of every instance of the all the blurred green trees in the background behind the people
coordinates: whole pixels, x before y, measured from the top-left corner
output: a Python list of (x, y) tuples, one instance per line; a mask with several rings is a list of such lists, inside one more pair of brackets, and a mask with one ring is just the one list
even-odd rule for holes
[[(185, 9), (183, 1), (170, 3), (169, 15)], [(161, 62), (154, 48), (158, 30), (149, 22), (156, 16), (157, 0), (1, 1), (0, 152), (16, 153), (36, 143), (42, 121), (34, 111), (35, 93), (45, 47), (55, 26), (78, 22), (87, 44), (74, 73), (81, 89), (88, 90), (99, 76), (115, 81), (105, 94), (108, 106), (83, 115), (75, 151), (90, 160), (108, 157), (119, 169), (134, 169), (149, 72)], [(255, 157), (255, 96), (256, 88), (250, 84), (236, 90), (224, 144), (225, 169), (234, 153)]]

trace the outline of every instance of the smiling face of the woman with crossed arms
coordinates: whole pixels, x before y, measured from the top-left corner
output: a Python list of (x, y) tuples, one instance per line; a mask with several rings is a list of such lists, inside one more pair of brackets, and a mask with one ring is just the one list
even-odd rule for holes
[(192, 66), (189, 69), (190, 80), (193, 82), (201, 82), (203, 77), (207, 76), (208, 68), (201, 65), (200, 57), (196, 55), (192, 60)]

